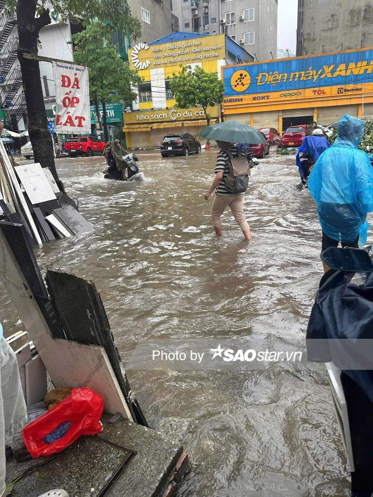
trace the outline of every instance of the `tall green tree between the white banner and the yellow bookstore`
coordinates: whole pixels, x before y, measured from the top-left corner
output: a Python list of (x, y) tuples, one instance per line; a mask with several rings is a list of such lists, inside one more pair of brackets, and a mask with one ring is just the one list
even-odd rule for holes
[[(136, 93), (131, 91), (131, 84), (138, 86), (142, 79), (138, 72), (130, 68), (117, 52), (111, 42), (110, 31), (106, 26), (93, 23), (85, 31), (73, 36), (74, 60), (86, 64), (89, 68), (90, 96), (92, 101), (102, 103), (102, 119), (105, 140), (108, 140), (106, 124), (106, 102), (124, 100), (131, 102)], [(96, 105), (97, 107), (97, 105)]]

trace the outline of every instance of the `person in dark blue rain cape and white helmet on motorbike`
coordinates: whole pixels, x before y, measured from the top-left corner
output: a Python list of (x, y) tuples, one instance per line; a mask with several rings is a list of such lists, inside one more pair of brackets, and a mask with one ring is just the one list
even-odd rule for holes
[(307, 178), (311, 172), (312, 166), (315, 164), (324, 150), (330, 147), (328, 140), (323, 136), (321, 129), (316, 128), (312, 132), (312, 136), (306, 136), (302, 140), (302, 145), (296, 151), (296, 165), (299, 169), (300, 179), (307, 188)]

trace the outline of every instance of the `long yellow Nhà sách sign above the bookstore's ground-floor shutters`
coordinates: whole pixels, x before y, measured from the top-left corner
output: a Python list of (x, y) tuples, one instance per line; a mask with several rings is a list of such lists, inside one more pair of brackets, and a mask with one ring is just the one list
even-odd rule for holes
[[(214, 119), (219, 117), (219, 106), (207, 107), (207, 113)], [(202, 120), (206, 119), (202, 107), (189, 107), (188, 109), (166, 109), (166, 110), (146, 110), (142, 112), (124, 112), (123, 123), (147, 123), (147, 122), (172, 122)]]

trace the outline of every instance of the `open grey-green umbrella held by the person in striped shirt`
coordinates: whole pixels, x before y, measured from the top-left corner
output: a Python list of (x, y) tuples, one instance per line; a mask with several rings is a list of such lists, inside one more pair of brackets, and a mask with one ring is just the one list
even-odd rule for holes
[(224, 121), (223, 123), (206, 126), (198, 131), (198, 136), (208, 138), (209, 140), (219, 140), (229, 143), (250, 143), (258, 145), (266, 143), (266, 137), (256, 128), (238, 121)]

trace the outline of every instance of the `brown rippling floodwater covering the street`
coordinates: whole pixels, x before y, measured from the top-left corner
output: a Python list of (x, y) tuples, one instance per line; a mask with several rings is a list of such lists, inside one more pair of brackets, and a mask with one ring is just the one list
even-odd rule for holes
[[(143, 182), (104, 180), (103, 161), (56, 162), (95, 231), (35, 249), (43, 274), (96, 284), (125, 364), (144, 338), (252, 336), (303, 343), (322, 274), (321, 229), (294, 156), (260, 161), (244, 198), (252, 242), (229, 210), (210, 222), (217, 149), (162, 159), (139, 151)], [(271, 151), (272, 154), (272, 151)], [(0, 288), (1, 321), (18, 317)], [(9, 334), (9, 332), (7, 333)], [(181, 497), (342, 497), (346, 458), (324, 366), (295, 371), (129, 371), (151, 427), (182, 425), (191, 472)]]

